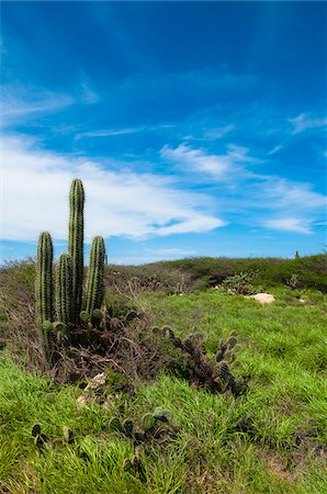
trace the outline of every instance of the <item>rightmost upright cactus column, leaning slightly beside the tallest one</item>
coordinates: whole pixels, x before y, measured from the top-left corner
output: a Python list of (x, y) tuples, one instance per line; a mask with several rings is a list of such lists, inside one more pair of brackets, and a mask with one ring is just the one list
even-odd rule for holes
[(89, 314), (100, 308), (104, 297), (104, 256), (105, 247), (102, 237), (94, 237), (90, 252), (90, 266), (87, 284), (87, 306)]

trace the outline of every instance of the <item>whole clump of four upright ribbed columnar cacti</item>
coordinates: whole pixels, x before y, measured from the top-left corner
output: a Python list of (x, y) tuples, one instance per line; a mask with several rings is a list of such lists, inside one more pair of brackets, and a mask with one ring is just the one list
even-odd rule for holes
[[(36, 305), (43, 347), (50, 360), (53, 336), (57, 341), (67, 339), (69, 330), (81, 321), (101, 319), (97, 314), (104, 297), (105, 247), (102, 237), (92, 243), (86, 311), (82, 311), (83, 288), (83, 205), (84, 191), (81, 180), (75, 179), (70, 188), (70, 217), (68, 254), (61, 254), (56, 270), (56, 322), (53, 321), (53, 245), (50, 235), (44, 232), (37, 246)], [(99, 311), (98, 311), (99, 312)], [(92, 319), (93, 317), (93, 319)], [(98, 324), (98, 323), (97, 323)]]

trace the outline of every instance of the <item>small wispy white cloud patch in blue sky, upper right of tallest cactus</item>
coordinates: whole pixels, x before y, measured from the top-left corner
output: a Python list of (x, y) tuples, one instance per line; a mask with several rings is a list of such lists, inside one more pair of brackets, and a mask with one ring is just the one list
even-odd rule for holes
[(205, 172), (222, 181), (229, 180), (230, 173), (237, 171), (239, 165), (259, 161), (248, 156), (247, 148), (234, 144), (227, 146), (227, 153), (224, 155), (210, 155), (203, 149), (194, 149), (183, 144), (177, 148), (164, 146), (160, 155), (167, 160), (189, 167), (188, 171)]

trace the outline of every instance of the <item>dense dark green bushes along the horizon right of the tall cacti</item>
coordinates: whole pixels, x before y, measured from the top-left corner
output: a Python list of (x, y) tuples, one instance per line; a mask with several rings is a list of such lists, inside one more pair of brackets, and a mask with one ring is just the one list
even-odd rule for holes
[[(131, 278), (143, 281), (144, 289), (171, 289), (172, 292), (189, 292), (221, 284), (228, 277), (241, 272), (256, 272), (253, 287), (287, 284), (296, 274), (300, 287), (315, 288), (327, 292), (327, 255), (284, 258), (199, 257), (161, 261), (143, 266), (108, 268), (108, 273), (120, 272), (120, 283), (127, 284)], [(117, 277), (120, 278), (120, 277)], [(110, 277), (108, 277), (109, 281)], [(153, 281), (151, 281), (153, 280)], [(180, 290), (179, 290), (180, 288)]]

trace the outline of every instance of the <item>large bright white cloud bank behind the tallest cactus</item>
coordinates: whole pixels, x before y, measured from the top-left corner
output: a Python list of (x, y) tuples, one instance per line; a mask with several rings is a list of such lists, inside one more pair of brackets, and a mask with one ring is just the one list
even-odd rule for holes
[(3, 137), (1, 153), (2, 238), (36, 239), (44, 229), (66, 238), (74, 177), (86, 187), (88, 242), (94, 235), (140, 238), (207, 232), (224, 224), (204, 211), (205, 197), (178, 190), (167, 178), (111, 171), (86, 158), (35, 149), (21, 137)]

